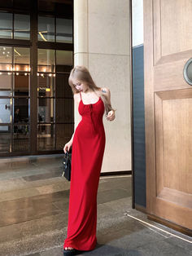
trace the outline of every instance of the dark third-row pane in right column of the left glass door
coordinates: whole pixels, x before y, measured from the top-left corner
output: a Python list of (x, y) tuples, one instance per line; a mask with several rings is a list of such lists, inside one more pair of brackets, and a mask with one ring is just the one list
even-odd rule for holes
[(14, 123), (28, 122), (28, 99), (14, 98)]

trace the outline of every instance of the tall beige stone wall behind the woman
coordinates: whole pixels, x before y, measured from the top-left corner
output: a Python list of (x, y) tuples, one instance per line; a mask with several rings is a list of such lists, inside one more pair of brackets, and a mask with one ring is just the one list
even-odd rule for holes
[[(102, 172), (131, 170), (129, 0), (74, 0), (74, 61), (111, 90)], [(75, 122), (78, 113), (75, 106)], [(76, 127), (76, 125), (75, 125)]]

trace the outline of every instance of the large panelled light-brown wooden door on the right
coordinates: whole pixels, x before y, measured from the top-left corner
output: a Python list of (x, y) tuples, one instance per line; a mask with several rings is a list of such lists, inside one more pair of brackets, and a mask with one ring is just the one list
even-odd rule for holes
[(192, 1), (144, 0), (146, 210), (192, 228)]

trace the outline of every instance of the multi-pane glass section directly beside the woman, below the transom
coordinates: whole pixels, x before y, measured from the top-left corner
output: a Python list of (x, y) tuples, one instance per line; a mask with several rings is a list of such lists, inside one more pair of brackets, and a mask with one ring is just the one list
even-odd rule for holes
[[(68, 127), (72, 131), (74, 119), (72, 91), (65, 70), (66, 66), (72, 66), (72, 51), (38, 49), (37, 55), (37, 147), (39, 150), (61, 149), (68, 141)], [(65, 129), (66, 134), (56, 135), (59, 128)]]

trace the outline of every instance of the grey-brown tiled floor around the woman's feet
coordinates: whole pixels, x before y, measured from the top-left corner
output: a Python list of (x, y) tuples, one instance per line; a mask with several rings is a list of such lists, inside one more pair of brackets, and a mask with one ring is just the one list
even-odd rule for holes
[[(59, 256), (68, 227), (70, 183), (61, 159), (0, 164), (0, 255)], [(101, 177), (98, 245), (81, 255), (192, 255), (185, 236), (131, 208), (131, 176)]]

